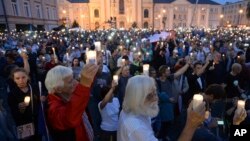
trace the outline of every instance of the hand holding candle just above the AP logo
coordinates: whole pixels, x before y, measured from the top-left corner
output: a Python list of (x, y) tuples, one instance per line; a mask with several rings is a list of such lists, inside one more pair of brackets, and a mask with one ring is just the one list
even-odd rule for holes
[(234, 112), (233, 125), (239, 125), (246, 117), (246, 110), (243, 108), (237, 108)]

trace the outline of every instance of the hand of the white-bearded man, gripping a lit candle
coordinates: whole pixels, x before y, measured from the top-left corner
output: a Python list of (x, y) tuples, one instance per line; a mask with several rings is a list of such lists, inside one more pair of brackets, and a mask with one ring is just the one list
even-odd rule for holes
[(193, 101), (188, 106), (186, 126), (192, 129), (196, 129), (205, 120), (205, 102), (197, 107), (196, 111), (194, 111), (192, 107)]

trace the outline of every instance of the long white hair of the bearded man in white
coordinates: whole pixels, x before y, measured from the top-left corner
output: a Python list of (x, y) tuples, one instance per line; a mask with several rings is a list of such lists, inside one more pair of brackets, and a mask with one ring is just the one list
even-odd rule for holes
[(137, 75), (128, 80), (123, 110), (128, 113), (143, 114), (144, 101), (152, 88), (155, 87), (153, 78), (146, 75)]

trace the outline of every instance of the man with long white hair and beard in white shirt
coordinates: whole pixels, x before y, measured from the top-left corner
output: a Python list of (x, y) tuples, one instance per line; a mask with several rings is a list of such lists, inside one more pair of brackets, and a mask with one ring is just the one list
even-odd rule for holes
[[(129, 79), (123, 109), (120, 113), (117, 140), (119, 141), (158, 141), (151, 127), (151, 118), (159, 112), (155, 81), (148, 76), (135, 76)], [(205, 103), (198, 112), (188, 111), (188, 122), (179, 140), (191, 140), (195, 129), (204, 121)]]

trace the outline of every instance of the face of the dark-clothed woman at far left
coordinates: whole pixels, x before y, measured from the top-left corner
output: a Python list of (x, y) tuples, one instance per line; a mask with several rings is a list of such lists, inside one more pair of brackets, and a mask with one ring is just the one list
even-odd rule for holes
[(15, 72), (14, 82), (19, 88), (24, 88), (27, 86), (28, 76), (24, 72)]

